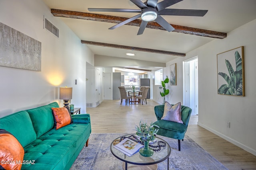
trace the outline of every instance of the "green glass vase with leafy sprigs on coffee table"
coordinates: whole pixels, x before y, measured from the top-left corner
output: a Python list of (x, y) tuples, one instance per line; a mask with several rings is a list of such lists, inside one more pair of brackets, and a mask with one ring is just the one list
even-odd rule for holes
[(144, 123), (140, 121), (139, 126), (135, 126), (136, 129), (136, 135), (139, 136), (140, 141), (142, 141), (142, 144), (144, 144), (144, 148), (140, 149), (139, 152), (142, 156), (152, 156), (154, 154), (154, 150), (152, 150), (148, 145), (150, 141), (153, 141), (155, 139), (155, 135), (158, 132), (158, 129), (155, 129), (154, 127), (158, 127), (158, 125), (153, 124), (152, 122), (150, 124)]

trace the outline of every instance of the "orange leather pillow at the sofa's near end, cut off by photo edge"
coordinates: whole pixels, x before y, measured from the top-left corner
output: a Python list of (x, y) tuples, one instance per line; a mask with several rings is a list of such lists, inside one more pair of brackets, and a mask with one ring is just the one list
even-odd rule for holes
[(24, 158), (24, 149), (11, 133), (0, 129), (0, 169), (20, 170)]

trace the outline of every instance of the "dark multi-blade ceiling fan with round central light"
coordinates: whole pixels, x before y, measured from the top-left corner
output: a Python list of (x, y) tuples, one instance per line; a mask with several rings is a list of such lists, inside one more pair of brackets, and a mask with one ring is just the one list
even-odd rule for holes
[(112, 9), (112, 8), (88, 8), (90, 12), (134, 12), (140, 13), (128, 20), (125, 20), (109, 29), (115, 29), (129, 23), (133, 20), (138, 18), (142, 19), (140, 23), (140, 28), (137, 35), (141, 35), (149, 21), (156, 21), (159, 25), (161, 25), (167, 31), (173, 31), (174, 27), (170, 25), (161, 15), (168, 15), (168, 16), (204, 16), (208, 10), (185, 10), (185, 9), (166, 9), (167, 7), (176, 4), (182, 0), (163, 0), (158, 3), (158, 0), (147, 0), (146, 2), (142, 2), (141, 0), (130, 0), (136, 6), (140, 8), (140, 10), (133, 10), (133, 9)]

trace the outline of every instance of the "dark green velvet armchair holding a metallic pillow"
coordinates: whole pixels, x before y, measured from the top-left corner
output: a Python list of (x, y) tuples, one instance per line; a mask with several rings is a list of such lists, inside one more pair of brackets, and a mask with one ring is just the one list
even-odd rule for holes
[(159, 129), (157, 134), (178, 139), (178, 149), (180, 151), (180, 139), (182, 141), (184, 139), (185, 133), (188, 129), (188, 121), (190, 119), (192, 109), (187, 106), (181, 106), (181, 119), (183, 123), (161, 120), (164, 114), (164, 104), (155, 106), (154, 110), (157, 118), (157, 121), (154, 122), (154, 124), (159, 126), (159, 128), (157, 128)]

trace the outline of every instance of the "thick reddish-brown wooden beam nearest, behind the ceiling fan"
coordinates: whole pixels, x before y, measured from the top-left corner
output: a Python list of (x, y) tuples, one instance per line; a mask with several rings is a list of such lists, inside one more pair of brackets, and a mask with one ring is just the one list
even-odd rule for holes
[[(92, 13), (76, 12), (76, 11), (68, 11), (68, 10), (58, 10), (58, 9), (51, 9), (51, 12), (54, 16), (58, 16), (58, 17), (76, 18), (76, 19), (82, 19), (82, 20), (100, 21), (100, 22), (109, 22), (109, 23), (121, 23), (122, 21), (125, 21), (128, 19), (124, 17), (116, 17), (116, 16), (108, 16), (108, 15), (102, 15), (102, 14), (92, 14)], [(133, 26), (139, 27), (140, 23), (141, 23), (141, 20), (137, 19), (127, 23), (126, 25), (133, 25)], [(223, 39), (227, 37), (227, 33), (192, 28), (192, 27), (185, 27), (181, 25), (173, 25), (173, 24), (171, 25), (175, 28), (174, 32), (198, 35), (203, 37), (212, 37), (217, 39)], [(163, 27), (161, 27), (158, 23), (154, 21), (148, 22), (147, 28), (165, 30)]]

